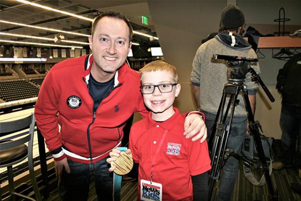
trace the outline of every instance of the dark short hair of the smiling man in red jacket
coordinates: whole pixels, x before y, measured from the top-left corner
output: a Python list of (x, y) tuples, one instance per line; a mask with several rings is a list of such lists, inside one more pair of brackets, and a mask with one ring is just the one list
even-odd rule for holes
[(133, 28), (132, 28), (132, 26), (130, 25), (127, 18), (118, 11), (106, 11), (106, 12), (100, 14), (99, 16), (95, 17), (94, 21), (92, 22), (92, 30), (91, 30), (91, 35), (92, 36), (93, 36), (93, 33), (95, 31), (95, 28), (97, 26), (98, 21), (101, 20), (103, 17), (123, 20), (126, 23), (127, 27), (128, 27), (129, 41), (131, 41), (133, 39)]

